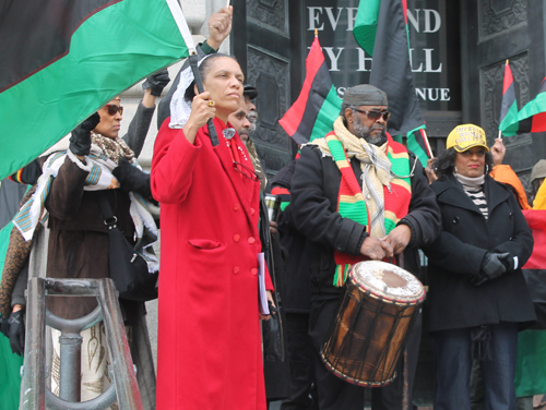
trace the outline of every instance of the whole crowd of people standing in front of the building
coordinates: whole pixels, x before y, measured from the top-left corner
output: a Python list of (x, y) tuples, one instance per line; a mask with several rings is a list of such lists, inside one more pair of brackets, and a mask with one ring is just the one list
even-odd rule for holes
[[(321, 352), (348, 273), (365, 261), (403, 263), (427, 279), (436, 410), (531, 409), (530, 397), (546, 390), (520, 394), (515, 379), (518, 361), (533, 354), (518, 348), (519, 337), (537, 321), (522, 269), (533, 253), (522, 209), (533, 207), (501, 164), (501, 140), (489, 148), (482, 128), (458, 125), (446, 150), (424, 168), (387, 132), (385, 93), (355, 85), (344, 93), (333, 130), (300, 146), (297, 159), (269, 181), (252, 141), (258, 91), (234, 57), (216, 52), (232, 15), (224, 8), (209, 22), (211, 37), (199, 50), (203, 91), (185, 65), (163, 98), (150, 173), (136, 158), (155, 98), (169, 82), (166, 71), (144, 82), (126, 137), (118, 135), (123, 109), (117, 97), (73, 130), (68, 146), (14, 174), (32, 189), (15, 217), (0, 284), (1, 329), (13, 351), (24, 352), (24, 286), (15, 284), (26, 280), (40, 218), (48, 215), (48, 277), (108, 278), (99, 206), (106, 197), (126, 239), (150, 272), (161, 273), (157, 381), (144, 304), (120, 299), (146, 409), (266, 409), (274, 397), (283, 398), (283, 410), (364, 409), (366, 388), (332, 372)], [(544, 164), (532, 173), (535, 209), (546, 201)], [(275, 220), (268, 218), (265, 193), (281, 198)], [(161, 265), (150, 251), (158, 226)], [(419, 250), (428, 257), (426, 277)], [(261, 298), (269, 311), (260, 309)], [(96, 305), (93, 298), (47, 300), (63, 318)], [(371, 388), (373, 410), (412, 408), (423, 316), (418, 310), (394, 379)], [(263, 326), (266, 321), (280, 327)], [(54, 331), (54, 362), (58, 336)], [(114, 359), (102, 324), (82, 336), (87, 400), (109, 384)], [(275, 357), (264, 352), (265, 339), (281, 349), (286, 343), (288, 366), (275, 376), (264, 371), (264, 355)], [(54, 374), (58, 394), (57, 383)], [(280, 384), (284, 394), (273, 395), (271, 386)]]

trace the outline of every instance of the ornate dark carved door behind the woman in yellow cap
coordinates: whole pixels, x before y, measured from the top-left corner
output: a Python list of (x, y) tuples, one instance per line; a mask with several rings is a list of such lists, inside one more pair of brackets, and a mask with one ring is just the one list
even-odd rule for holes
[[(461, 2), (463, 122), (482, 125), (490, 145), (498, 136), (505, 62), (510, 60), (519, 109), (533, 99), (544, 69), (543, 2)], [(531, 169), (546, 153), (544, 134), (505, 138), (509, 164), (529, 188)]]

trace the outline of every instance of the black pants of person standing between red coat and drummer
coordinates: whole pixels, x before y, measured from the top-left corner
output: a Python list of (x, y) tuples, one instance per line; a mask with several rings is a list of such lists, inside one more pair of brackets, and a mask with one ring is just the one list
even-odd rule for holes
[(289, 396), (281, 405), (281, 410), (319, 409), (313, 348), (308, 329), (309, 314), (286, 313), (290, 387)]

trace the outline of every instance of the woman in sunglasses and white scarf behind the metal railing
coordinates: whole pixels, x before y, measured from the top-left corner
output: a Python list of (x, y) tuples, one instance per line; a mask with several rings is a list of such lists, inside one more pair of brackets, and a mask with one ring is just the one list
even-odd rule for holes
[[(154, 112), (155, 97), (168, 83), (168, 73), (163, 71), (149, 77), (143, 87), (144, 98), (139, 105), (136, 114), (129, 126), (127, 141), (140, 153)], [(119, 136), (123, 108), (119, 97), (102, 107), (86, 119), (70, 136), (70, 146), (66, 150), (56, 150), (38, 158), (33, 166), (17, 173), (21, 182), (36, 183), (45, 206), (37, 213), (28, 201), (20, 212), (20, 216), (33, 221), (29, 230), (23, 236), (29, 240), (41, 210), (49, 213), (49, 246), (47, 276), (55, 278), (106, 278), (108, 269), (108, 232), (104, 217), (97, 203), (97, 195), (104, 193), (117, 217), (117, 226), (126, 238), (133, 243), (136, 237), (144, 249), (150, 249), (156, 228), (145, 201), (151, 198), (150, 177), (144, 174), (135, 161), (135, 153)], [(32, 169), (31, 169), (32, 168)], [(55, 178), (54, 178), (55, 176)], [(33, 180), (34, 179), (34, 180)], [(132, 193), (131, 195), (129, 193)], [(138, 213), (132, 210), (138, 208)], [(139, 215), (135, 215), (139, 214)], [(144, 215), (144, 217), (142, 217)], [(146, 220), (143, 233), (135, 234), (135, 224)], [(17, 232), (19, 233), (19, 232)], [(13, 236), (13, 233), (12, 233)], [(147, 252), (147, 251), (146, 251)], [(26, 253), (27, 254), (27, 253)], [(8, 256), (7, 256), (8, 257)], [(158, 268), (157, 261), (153, 262)], [(12, 275), (2, 275), (0, 293), (11, 296), (13, 284), (20, 269)], [(4, 280), (4, 276), (7, 280)], [(8, 280), (9, 279), (9, 280)], [(8, 298), (9, 299), (9, 298)], [(9, 300), (0, 298), (2, 315)], [(5, 303), (4, 303), (5, 302)], [(147, 329), (142, 326), (145, 321), (143, 304), (121, 301), (126, 323), (131, 327), (133, 343), (133, 361), (139, 369), (138, 381), (145, 408), (155, 402), (155, 375), (153, 369)], [(78, 318), (91, 313), (97, 305), (96, 298), (48, 298), (47, 306), (57, 316)], [(16, 314), (15, 308), (11, 315)], [(21, 311), (19, 311), (21, 312)], [(59, 333), (54, 331), (54, 367), (52, 386), (59, 394)], [(82, 401), (92, 399), (108, 386), (107, 365), (109, 361), (104, 327), (102, 324), (82, 333)], [(11, 339), (11, 334), (10, 334)], [(12, 342), (12, 346), (14, 343)], [(17, 346), (23, 351), (23, 343)]]

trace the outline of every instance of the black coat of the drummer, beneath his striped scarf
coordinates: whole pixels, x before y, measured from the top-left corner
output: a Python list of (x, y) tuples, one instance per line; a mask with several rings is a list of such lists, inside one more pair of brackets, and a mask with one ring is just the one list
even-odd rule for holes
[[(414, 169), (412, 200), (408, 214), (399, 221), (412, 229), (412, 240), (404, 251), (404, 268), (419, 277), (420, 264), (417, 249), (432, 243), (440, 231), (440, 210), (423, 166), (410, 157)], [(360, 162), (351, 159), (357, 181), (361, 181)], [(311, 273), (311, 292), (319, 298), (340, 294), (343, 288), (333, 286), (335, 273), (334, 249), (352, 255), (360, 254), (366, 226), (343, 218), (337, 212), (341, 172), (332, 157), (323, 157), (317, 146), (301, 149), (292, 181), (293, 217), (297, 229), (308, 239), (308, 257)]]

